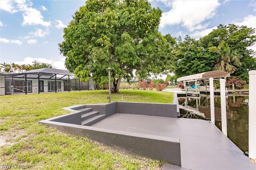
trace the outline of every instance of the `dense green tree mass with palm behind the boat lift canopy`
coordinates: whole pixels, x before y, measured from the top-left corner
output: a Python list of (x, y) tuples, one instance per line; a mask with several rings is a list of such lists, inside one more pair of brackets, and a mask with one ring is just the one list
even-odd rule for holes
[(247, 80), (248, 71), (256, 69), (255, 51), (248, 49), (256, 42), (254, 28), (220, 24), (200, 39), (178, 40), (174, 72), (179, 77), (223, 70)]

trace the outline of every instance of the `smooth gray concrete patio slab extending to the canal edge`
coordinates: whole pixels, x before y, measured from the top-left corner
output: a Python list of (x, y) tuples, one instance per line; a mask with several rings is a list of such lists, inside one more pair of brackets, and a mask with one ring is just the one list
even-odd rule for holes
[(256, 165), (209, 121), (116, 113), (91, 127), (178, 138), (183, 168), (256, 169)]

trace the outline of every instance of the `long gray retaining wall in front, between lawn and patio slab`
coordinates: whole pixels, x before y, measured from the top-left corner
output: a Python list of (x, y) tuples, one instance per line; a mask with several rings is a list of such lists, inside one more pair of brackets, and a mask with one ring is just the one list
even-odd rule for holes
[(51, 125), (68, 133), (85, 135), (93, 141), (103, 143), (121, 151), (158, 160), (164, 159), (170, 164), (181, 166), (180, 139), (177, 138), (113, 131), (110, 129), (48, 120), (40, 121), (40, 123)]

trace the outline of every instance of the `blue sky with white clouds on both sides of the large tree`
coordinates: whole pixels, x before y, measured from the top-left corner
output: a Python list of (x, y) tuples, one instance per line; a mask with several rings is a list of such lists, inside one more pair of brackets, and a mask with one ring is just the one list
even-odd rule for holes
[[(149, 0), (163, 14), (159, 31), (173, 37), (207, 35), (219, 24), (256, 28), (256, 0)], [(50, 63), (64, 69), (58, 43), (85, 0), (0, 0), (0, 63)], [(256, 51), (256, 45), (250, 47)]]

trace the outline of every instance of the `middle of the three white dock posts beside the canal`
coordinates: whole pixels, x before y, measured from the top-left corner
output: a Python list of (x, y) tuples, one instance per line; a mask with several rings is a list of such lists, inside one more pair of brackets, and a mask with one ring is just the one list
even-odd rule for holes
[(227, 113), (226, 113), (226, 89), (225, 89), (225, 80), (220, 79), (220, 107), (221, 107), (221, 129), (224, 135), (227, 134)]

